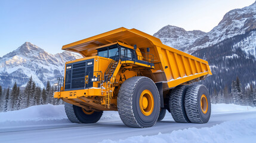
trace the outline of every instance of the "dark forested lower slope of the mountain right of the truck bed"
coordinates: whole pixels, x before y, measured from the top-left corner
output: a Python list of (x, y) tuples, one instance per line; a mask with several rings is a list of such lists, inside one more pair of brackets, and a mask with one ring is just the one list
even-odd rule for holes
[[(207, 77), (201, 83), (206, 85), (211, 93), (223, 92), (224, 88), (231, 89), (231, 83), (238, 76), (242, 88), (255, 87), (256, 83), (256, 58), (248, 55), (245, 48), (253, 46), (253, 42), (246, 42), (256, 31), (236, 35), (208, 48), (198, 49), (192, 55), (208, 61), (212, 76)], [(237, 42), (239, 41), (239, 42)], [(243, 45), (250, 46), (243, 46)], [(242, 49), (244, 48), (244, 49)], [(255, 48), (255, 46), (254, 46)], [(218, 94), (218, 93), (215, 93)]]

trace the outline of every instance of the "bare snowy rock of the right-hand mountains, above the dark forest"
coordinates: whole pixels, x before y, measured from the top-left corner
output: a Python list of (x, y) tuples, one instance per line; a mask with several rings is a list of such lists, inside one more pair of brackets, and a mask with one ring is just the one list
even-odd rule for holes
[[(180, 27), (165, 26), (153, 36), (161, 39), (166, 45), (187, 53), (192, 53), (197, 49), (213, 46), (233, 36), (242, 35), (255, 29), (256, 2), (248, 7), (229, 11), (224, 15), (223, 20), (220, 21), (218, 26), (214, 27), (208, 33), (199, 30), (187, 32)], [(254, 53), (252, 54), (255, 55), (255, 46), (248, 48), (246, 46), (246, 42), (248, 43), (248, 41), (254, 42), (255, 44), (255, 32), (251, 34), (251, 37), (238, 43), (238, 45), (245, 45), (245, 47), (241, 48), (248, 54), (253, 51)]]

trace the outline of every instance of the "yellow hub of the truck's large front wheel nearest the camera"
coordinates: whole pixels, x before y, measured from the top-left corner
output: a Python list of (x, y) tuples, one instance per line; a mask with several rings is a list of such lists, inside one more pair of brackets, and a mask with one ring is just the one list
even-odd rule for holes
[(154, 98), (149, 90), (144, 90), (140, 94), (140, 110), (145, 116), (149, 116), (153, 112)]

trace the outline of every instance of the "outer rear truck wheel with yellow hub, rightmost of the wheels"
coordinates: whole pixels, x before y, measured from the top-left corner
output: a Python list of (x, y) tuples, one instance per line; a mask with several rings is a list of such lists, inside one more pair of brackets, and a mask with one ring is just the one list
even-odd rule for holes
[(186, 91), (185, 109), (192, 123), (207, 123), (211, 116), (211, 98), (204, 85), (192, 85)]

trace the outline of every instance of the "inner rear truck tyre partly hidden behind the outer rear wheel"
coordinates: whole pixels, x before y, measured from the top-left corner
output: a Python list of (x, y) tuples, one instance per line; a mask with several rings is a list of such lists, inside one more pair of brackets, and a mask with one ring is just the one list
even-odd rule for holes
[(171, 111), (172, 118), (178, 123), (190, 122), (184, 105), (187, 88), (187, 85), (179, 85), (169, 94), (169, 110)]

